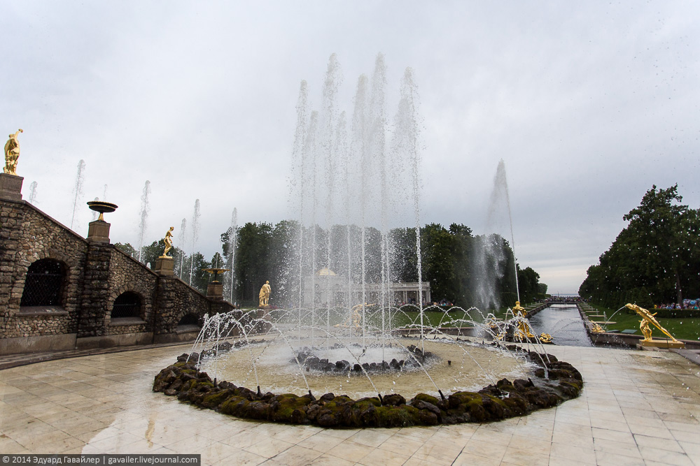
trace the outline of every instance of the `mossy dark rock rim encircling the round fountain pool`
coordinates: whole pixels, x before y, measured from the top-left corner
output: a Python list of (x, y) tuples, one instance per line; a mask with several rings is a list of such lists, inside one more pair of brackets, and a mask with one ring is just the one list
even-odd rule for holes
[[(310, 390), (304, 395), (262, 393), (259, 387), (255, 391), (212, 380), (206, 372), (197, 370), (194, 361), (188, 361), (190, 355), (183, 354), (155, 377), (153, 391), (240, 418), (328, 428), (498, 421), (556, 406), (579, 395), (583, 382), (575, 367), (546, 354), (521, 356), (533, 363), (526, 379), (510, 381), (504, 377), (478, 391), (458, 390), (447, 396), (421, 392), (407, 400), (400, 393), (375, 393), (355, 400), (332, 392), (316, 398)], [(346, 384), (349, 379), (345, 379)]]

